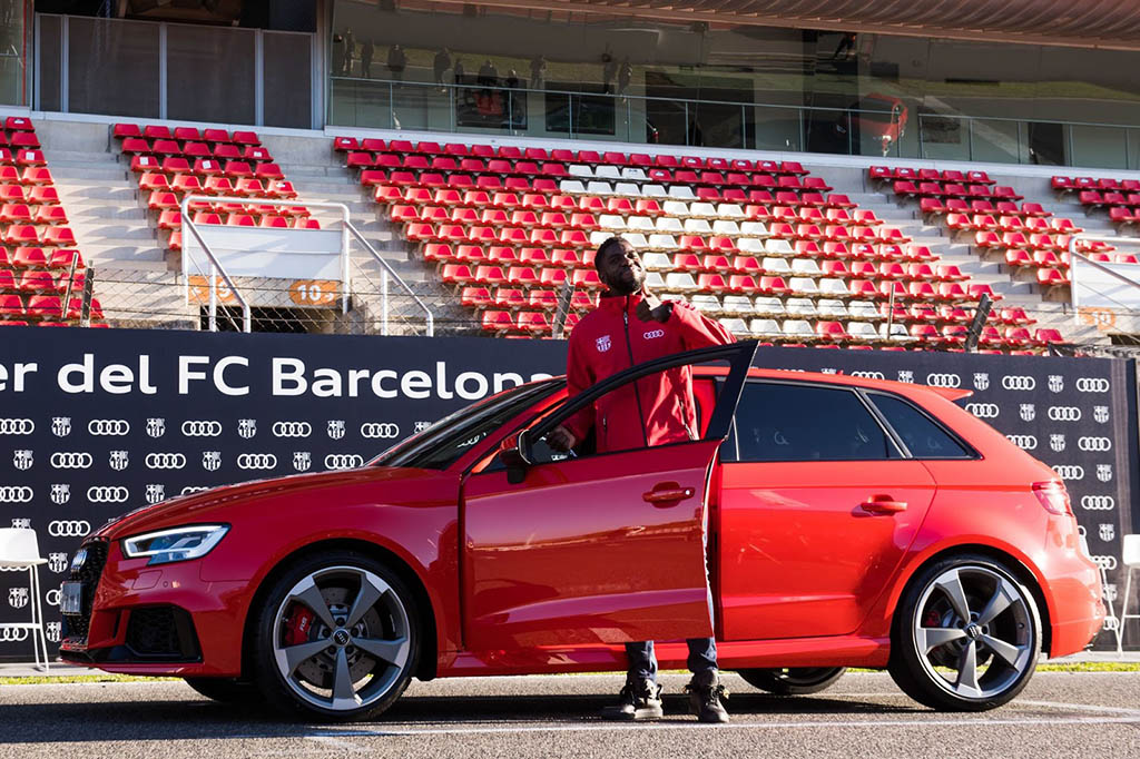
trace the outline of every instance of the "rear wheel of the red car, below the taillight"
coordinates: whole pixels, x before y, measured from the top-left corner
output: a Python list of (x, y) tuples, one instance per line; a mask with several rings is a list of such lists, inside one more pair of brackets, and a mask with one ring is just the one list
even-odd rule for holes
[(1011, 701), (1041, 653), (1033, 594), (988, 556), (944, 558), (906, 587), (891, 626), (895, 684), (939, 711), (985, 711)]

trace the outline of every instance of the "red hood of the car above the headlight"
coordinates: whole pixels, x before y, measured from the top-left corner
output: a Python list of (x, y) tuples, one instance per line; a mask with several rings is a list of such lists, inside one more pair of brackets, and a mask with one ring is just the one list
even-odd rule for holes
[(201, 524), (203, 522), (225, 522), (226, 512), (238, 503), (253, 498), (300, 492), (309, 489), (327, 490), (337, 485), (350, 485), (364, 482), (380, 483), (384, 481), (426, 479), (439, 476), (431, 470), (397, 468), (388, 466), (369, 466), (359, 470), (340, 472), (318, 472), (316, 474), (294, 474), (271, 480), (253, 480), (231, 485), (220, 485), (171, 498), (152, 506), (144, 506), (133, 512), (111, 520), (96, 531), (96, 536), (117, 540), (130, 534), (150, 529), (162, 529), (176, 524)]

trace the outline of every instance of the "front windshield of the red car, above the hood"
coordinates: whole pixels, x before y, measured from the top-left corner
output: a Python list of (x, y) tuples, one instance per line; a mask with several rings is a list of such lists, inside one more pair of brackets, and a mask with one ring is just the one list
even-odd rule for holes
[(564, 379), (544, 379), (504, 390), (443, 417), (392, 446), (369, 464), (446, 470), (511, 417), (564, 386)]

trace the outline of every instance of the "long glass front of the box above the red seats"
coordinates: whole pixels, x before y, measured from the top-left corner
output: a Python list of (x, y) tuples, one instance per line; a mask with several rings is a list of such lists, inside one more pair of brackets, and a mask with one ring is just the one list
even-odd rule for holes
[(1140, 168), (1140, 52), (337, 0), (331, 125)]

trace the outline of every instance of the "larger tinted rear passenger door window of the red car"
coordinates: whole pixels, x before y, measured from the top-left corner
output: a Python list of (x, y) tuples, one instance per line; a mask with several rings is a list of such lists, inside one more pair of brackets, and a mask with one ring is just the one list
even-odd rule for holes
[(749, 382), (735, 416), (740, 462), (845, 462), (898, 458), (860, 397), (849, 390)]

